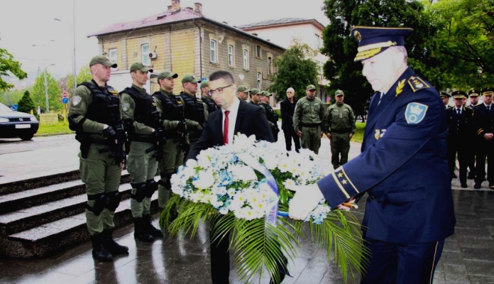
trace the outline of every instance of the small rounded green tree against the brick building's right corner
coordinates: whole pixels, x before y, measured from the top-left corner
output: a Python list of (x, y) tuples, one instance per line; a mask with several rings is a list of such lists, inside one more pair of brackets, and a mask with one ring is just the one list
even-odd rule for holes
[(314, 55), (315, 51), (309, 45), (296, 42), (276, 58), (278, 72), (271, 77), (273, 83), (269, 87), (270, 92), (276, 94), (276, 99), (283, 99), (289, 87), (295, 89), (295, 95), (299, 98), (305, 96), (308, 84), (317, 87), (317, 64), (310, 59)]

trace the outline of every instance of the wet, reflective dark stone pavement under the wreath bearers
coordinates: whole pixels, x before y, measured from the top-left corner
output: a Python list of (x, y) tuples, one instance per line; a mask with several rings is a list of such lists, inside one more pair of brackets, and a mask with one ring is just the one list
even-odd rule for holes
[[(282, 135), (278, 143), (284, 147)], [(358, 155), (359, 150), (359, 143), (351, 143), (350, 156)], [(9, 155), (16, 158), (16, 153)], [(72, 159), (67, 155), (58, 156), (59, 159)], [(326, 138), (322, 141), (319, 158), (324, 170), (331, 170)], [(14, 179), (14, 174), (9, 172), (5, 178)], [(460, 188), (458, 179), (453, 181), (457, 224), (455, 234), (446, 239), (434, 283), (494, 283), (494, 190), (489, 190), (486, 183), (482, 190), (473, 190), (471, 180), (466, 189)], [(356, 212), (363, 212), (363, 204), (359, 204), (361, 207)], [(154, 224), (158, 224), (157, 215)], [(95, 262), (91, 244), (87, 242), (43, 259), (0, 258), (0, 283), (211, 283), (207, 232), (208, 228), (203, 224), (193, 239), (182, 236), (148, 244), (135, 241), (133, 226), (125, 226), (115, 231), (114, 236), (120, 244), (129, 247), (129, 254), (116, 258), (113, 263)], [(231, 267), (231, 283), (243, 283), (236, 277), (233, 263)], [(302, 241), (297, 258), (290, 261), (288, 267), (293, 277), (285, 278), (284, 284), (344, 283), (338, 268), (332, 261), (326, 261), (325, 253), (310, 241)], [(252, 283), (267, 284), (269, 279), (263, 276)], [(348, 283), (358, 283), (358, 280)]]

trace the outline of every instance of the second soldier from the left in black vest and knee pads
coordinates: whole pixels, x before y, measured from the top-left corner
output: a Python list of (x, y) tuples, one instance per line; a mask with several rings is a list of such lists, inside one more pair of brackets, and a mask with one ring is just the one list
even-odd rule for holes
[[(131, 175), (131, 211), (134, 222), (134, 238), (140, 241), (153, 241), (163, 236), (152, 222), (150, 205), (153, 193), (158, 190), (154, 177), (158, 170), (158, 160), (163, 158), (163, 129), (153, 97), (143, 88), (148, 82), (148, 72), (153, 72), (142, 63), (131, 65), (132, 87), (127, 87), (121, 96), (121, 114), (127, 131), (130, 147), (127, 170)], [(153, 149), (154, 151), (150, 151)], [(147, 153), (148, 152), (148, 153)]]

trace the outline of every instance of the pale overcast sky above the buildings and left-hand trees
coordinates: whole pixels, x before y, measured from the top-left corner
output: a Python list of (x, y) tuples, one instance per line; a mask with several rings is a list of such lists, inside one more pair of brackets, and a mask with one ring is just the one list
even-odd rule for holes
[[(38, 67), (60, 78), (72, 73), (75, 20), (77, 72), (96, 55), (97, 39), (87, 35), (113, 23), (162, 13), (171, 0), (16, 0), (0, 10), (0, 48), (22, 63), (31, 78)], [(276, 18), (315, 18), (326, 25), (323, 0), (182, 0), (180, 6), (202, 4), (204, 16), (232, 26)], [(75, 15), (73, 7), (75, 4)], [(60, 18), (62, 21), (55, 21)], [(35, 45), (35, 46), (33, 46)], [(55, 64), (55, 65), (53, 65)]]

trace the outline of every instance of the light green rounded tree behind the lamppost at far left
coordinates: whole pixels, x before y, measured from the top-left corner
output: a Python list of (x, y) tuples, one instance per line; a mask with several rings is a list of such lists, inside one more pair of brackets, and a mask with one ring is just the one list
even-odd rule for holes
[[(45, 70), (46, 72), (46, 70)], [(62, 98), (62, 91), (58, 86), (57, 81), (50, 75), (49, 72), (46, 73), (46, 78), (48, 82), (48, 102), (50, 104), (50, 112), (57, 112), (62, 110), (63, 104), (60, 102)], [(45, 109), (45, 73), (40, 73), (36, 78), (33, 85), (33, 102), (35, 107), (41, 107)], [(45, 109), (46, 111), (46, 109)]]

